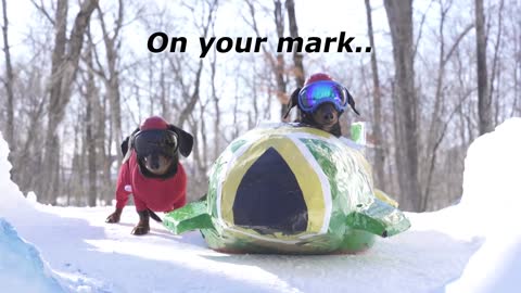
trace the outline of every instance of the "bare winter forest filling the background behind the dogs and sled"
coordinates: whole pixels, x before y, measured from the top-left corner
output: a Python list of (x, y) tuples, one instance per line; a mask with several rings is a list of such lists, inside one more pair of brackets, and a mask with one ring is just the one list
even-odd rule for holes
[[(468, 145), (521, 116), (519, 15), (519, 0), (2, 0), (12, 179), (42, 203), (111, 204), (119, 143), (161, 115), (195, 136), (182, 161), (195, 200), (231, 140), (280, 122), (288, 95), (326, 72), (361, 112), (342, 115), (344, 136), (353, 122), (369, 126), (377, 186), (403, 209), (439, 209), (462, 193)], [(149, 52), (155, 31), (187, 37), (187, 52)], [(372, 52), (276, 52), (279, 37), (340, 31)], [(200, 59), (199, 37), (211, 36), (268, 42)]]

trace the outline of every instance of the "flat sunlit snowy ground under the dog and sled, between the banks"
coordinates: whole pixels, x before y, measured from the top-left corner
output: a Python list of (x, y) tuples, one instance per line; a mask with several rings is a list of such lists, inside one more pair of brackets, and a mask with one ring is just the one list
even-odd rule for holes
[(18, 232), (55, 271), (102, 292), (432, 292), (459, 277), (481, 244), (440, 232), (431, 217), (361, 255), (226, 255), (196, 232), (176, 237), (155, 225), (134, 237), (131, 208), (119, 225), (104, 224), (110, 208), (38, 209), (34, 221), (13, 220)]

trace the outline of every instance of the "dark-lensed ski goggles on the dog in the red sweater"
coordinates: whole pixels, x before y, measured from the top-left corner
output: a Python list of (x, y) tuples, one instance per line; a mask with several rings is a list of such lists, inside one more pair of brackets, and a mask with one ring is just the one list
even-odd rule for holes
[(132, 146), (138, 157), (162, 154), (171, 157), (179, 144), (176, 132), (167, 129), (150, 129), (134, 135)]

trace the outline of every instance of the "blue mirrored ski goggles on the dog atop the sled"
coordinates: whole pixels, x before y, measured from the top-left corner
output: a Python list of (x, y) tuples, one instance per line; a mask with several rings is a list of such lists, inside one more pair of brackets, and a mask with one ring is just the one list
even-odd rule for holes
[(298, 106), (302, 111), (312, 113), (322, 103), (329, 102), (336, 111), (344, 112), (351, 99), (344, 86), (331, 80), (321, 80), (307, 85), (298, 92)]

